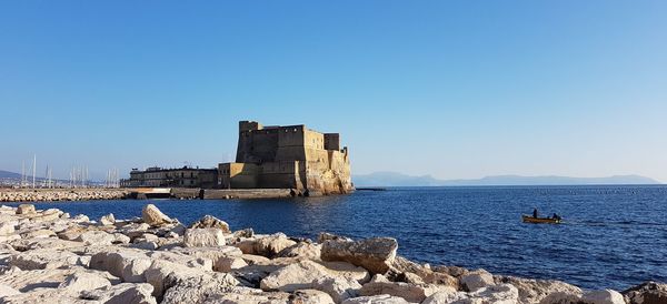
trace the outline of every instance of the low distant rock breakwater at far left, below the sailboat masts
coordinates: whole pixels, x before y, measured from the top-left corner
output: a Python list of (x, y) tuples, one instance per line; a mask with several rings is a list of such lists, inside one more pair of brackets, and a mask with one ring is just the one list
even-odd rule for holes
[(0, 202), (121, 200), (129, 195), (130, 191), (122, 189), (0, 190)]

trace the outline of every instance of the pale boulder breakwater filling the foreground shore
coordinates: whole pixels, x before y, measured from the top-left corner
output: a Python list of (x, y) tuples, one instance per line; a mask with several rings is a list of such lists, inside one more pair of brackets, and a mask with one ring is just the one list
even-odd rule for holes
[(655, 304), (667, 285), (621, 293), (428, 265), (390, 237), (317, 242), (189, 225), (146, 205), (142, 216), (91, 221), (57, 209), (0, 207), (0, 303)]

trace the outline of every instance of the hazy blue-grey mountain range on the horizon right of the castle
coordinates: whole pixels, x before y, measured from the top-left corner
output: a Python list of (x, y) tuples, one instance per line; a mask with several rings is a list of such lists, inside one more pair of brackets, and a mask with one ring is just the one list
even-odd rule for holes
[(476, 180), (438, 180), (430, 175), (412, 176), (397, 172), (352, 175), (355, 186), (456, 186), (456, 185), (587, 185), (587, 184), (659, 184), (639, 175), (608, 178), (495, 175)]

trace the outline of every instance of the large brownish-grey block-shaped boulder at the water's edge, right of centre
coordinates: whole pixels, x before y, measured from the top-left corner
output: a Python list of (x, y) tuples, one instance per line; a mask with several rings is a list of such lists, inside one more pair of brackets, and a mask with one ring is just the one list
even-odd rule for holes
[(391, 237), (374, 237), (356, 242), (325, 241), (322, 261), (344, 261), (365, 267), (371, 273), (386, 273), (394, 259), (398, 242)]

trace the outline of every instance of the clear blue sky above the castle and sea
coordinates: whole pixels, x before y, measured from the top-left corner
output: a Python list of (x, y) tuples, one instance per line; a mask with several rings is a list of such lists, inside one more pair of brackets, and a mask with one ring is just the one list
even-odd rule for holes
[(2, 1), (0, 169), (340, 132), (354, 173), (667, 182), (667, 1)]

